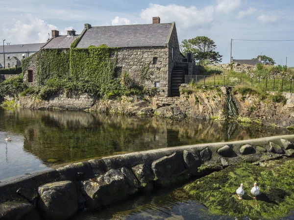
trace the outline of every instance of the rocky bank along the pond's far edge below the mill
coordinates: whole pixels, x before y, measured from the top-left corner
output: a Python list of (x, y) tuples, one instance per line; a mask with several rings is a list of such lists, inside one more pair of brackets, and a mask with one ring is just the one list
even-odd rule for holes
[(125, 115), (149, 115), (171, 119), (195, 118), (258, 122), (270, 126), (292, 127), (294, 94), (283, 93), (281, 102), (262, 99), (258, 95), (232, 94), (228, 87), (193, 89), (182, 84), (180, 97), (128, 96), (96, 99), (87, 94), (57, 94), (48, 100), (32, 96), (5, 97), (15, 99), (22, 108), (85, 110)]

